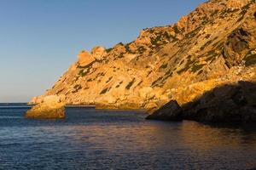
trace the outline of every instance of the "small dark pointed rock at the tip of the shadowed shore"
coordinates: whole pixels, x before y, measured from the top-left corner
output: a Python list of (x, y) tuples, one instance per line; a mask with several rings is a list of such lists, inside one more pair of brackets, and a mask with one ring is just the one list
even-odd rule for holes
[(183, 110), (177, 104), (176, 100), (171, 100), (166, 105), (162, 106), (158, 111), (146, 117), (149, 120), (163, 120), (163, 121), (182, 121)]

